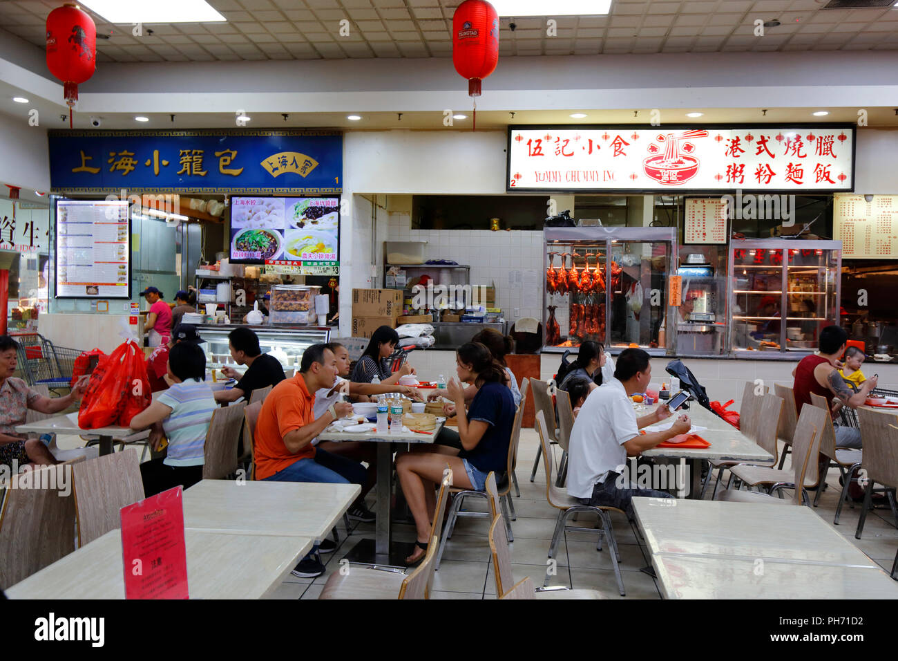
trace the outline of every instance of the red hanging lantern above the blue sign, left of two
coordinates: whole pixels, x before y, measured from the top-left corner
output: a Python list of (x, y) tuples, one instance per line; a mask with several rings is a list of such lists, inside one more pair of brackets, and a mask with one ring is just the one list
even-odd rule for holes
[(78, 100), (78, 84), (84, 83), (96, 68), (97, 28), (87, 13), (76, 4), (57, 7), (47, 17), (47, 67), (63, 82), (66, 103), (71, 108)]

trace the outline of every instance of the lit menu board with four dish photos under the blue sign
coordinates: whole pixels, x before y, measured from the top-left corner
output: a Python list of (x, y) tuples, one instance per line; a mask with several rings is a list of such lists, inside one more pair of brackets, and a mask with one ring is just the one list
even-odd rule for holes
[(339, 274), (339, 197), (231, 198), (231, 261)]

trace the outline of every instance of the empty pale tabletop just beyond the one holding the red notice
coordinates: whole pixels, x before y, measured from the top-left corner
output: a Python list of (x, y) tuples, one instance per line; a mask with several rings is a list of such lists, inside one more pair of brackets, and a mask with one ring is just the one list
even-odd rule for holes
[(323, 540), (361, 493), (354, 484), (204, 479), (184, 489), (184, 527)]

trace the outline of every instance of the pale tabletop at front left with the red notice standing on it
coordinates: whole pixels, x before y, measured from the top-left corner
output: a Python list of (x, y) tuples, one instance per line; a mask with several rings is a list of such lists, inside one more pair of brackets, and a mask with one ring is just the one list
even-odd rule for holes
[[(185, 492), (186, 494), (187, 492)], [(308, 537), (185, 530), (191, 599), (260, 599), (312, 548)], [(121, 531), (109, 531), (6, 590), (11, 599), (124, 599)]]

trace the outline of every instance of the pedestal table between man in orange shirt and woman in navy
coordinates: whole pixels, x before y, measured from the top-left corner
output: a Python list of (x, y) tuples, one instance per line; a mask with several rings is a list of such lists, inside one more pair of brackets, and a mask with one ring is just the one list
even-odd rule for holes
[(444, 424), (437, 418), (432, 433), (349, 433), (324, 432), (318, 434), (320, 441), (369, 441), (377, 443), (377, 505), (374, 514), (374, 543), (361, 540), (349, 551), (346, 558), (350, 562), (405, 567), (405, 558), (411, 553), (412, 544), (392, 542), (390, 531), (390, 500), (392, 494), (392, 443), (433, 443)]

